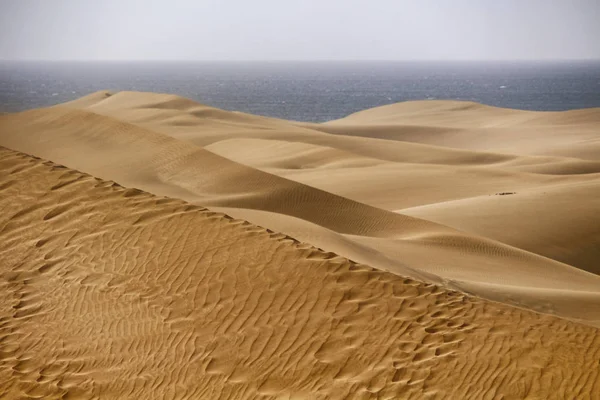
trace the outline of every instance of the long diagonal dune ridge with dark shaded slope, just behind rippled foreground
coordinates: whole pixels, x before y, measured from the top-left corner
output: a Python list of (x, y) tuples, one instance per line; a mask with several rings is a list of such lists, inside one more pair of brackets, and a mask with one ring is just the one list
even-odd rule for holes
[[(0, 120), (2, 144), (99, 177), (206, 205), (263, 209), (370, 236), (456, 230), (361, 204), (95, 113), (33, 110)], [(93, 154), (90, 157), (90, 154)]]

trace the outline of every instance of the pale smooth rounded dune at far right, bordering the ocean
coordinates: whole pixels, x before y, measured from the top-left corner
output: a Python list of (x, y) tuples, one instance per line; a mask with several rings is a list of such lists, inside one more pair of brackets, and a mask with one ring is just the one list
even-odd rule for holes
[(365, 137), (375, 132), (375, 137), (452, 148), (598, 161), (598, 124), (600, 109), (533, 112), (462, 101), (422, 101), (361, 111), (323, 124), (322, 129)]

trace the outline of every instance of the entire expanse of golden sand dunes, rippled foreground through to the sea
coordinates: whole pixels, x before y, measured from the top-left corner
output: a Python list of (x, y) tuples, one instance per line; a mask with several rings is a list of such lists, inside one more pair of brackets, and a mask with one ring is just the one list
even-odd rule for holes
[(0, 397), (593, 399), (600, 110), (0, 116)]

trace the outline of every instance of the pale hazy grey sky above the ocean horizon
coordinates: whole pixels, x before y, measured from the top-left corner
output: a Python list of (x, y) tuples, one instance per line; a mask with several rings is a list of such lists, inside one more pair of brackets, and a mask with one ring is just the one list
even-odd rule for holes
[(0, 0), (0, 59), (600, 58), (600, 0)]

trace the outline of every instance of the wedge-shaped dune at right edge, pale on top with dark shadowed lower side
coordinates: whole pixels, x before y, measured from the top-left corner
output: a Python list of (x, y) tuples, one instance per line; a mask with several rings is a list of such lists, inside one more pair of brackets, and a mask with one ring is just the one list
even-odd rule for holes
[[(600, 274), (600, 180), (399, 210)], [(530, 223), (535, 219), (536, 223)]]

